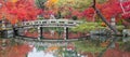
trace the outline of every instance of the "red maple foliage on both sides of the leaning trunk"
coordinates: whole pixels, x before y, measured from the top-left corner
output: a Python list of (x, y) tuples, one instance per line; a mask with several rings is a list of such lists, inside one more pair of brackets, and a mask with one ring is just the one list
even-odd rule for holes
[[(112, 17), (115, 17), (118, 22), (119, 19), (122, 19), (122, 17), (130, 18), (130, 1), (121, 2), (121, 4), (126, 13), (123, 13), (119, 0), (108, 0), (104, 3), (96, 3), (96, 8), (100, 9), (103, 16), (105, 16), (107, 20), (110, 20)], [(92, 8), (88, 8), (82, 11), (80, 15), (82, 17), (86, 17), (87, 20), (93, 20), (93, 18), (95, 17), (95, 11)], [(78, 14), (76, 16), (80, 15)]]

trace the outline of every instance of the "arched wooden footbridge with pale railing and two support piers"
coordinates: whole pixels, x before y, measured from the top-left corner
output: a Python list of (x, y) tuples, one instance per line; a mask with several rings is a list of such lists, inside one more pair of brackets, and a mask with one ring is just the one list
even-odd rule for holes
[[(44, 28), (56, 27), (56, 28), (64, 29), (63, 39), (66, 40), (68, 39), (68, 28), (76, 27), (79, 24), (81, 24), (81, 22), (68, 20), (68, 19), (43, 19), (43, 20), (23, 22), (21, 26), (15, 26), (15, 31), (16, 31), (15, 34), (24, 35), (24, 34), (21, 34), (21, 32), (23, 32), (24, 30), (29, 28), (37, 28), (38, 39), (40, 40), (41, 38), (43, 38), (42, 34), (43, 34)], [(52, 31), (51, 33), (54, 33), (54, 32)]]

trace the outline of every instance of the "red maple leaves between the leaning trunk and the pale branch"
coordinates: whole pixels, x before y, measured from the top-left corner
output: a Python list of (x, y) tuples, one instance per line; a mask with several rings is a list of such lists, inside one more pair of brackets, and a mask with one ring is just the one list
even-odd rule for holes
[(98, 4), (96, 6), (107, 20), (110, 20), (112, 17), (117, 17), (122, 12), (118, 1), (108, 1), (103, 4)]

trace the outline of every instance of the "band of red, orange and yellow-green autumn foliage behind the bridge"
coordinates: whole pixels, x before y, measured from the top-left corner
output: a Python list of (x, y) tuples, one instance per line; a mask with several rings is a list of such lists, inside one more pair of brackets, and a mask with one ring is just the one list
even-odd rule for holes
[[(61, 16), (65, 18), (76, 16), (78, 19), (94, 20), (96, 13), (91, 6), (92, 3), (89, 2), (89, 5), (80, 3), (83, 2), (79, 2), (79, 0), (68, 0), (67, 2), (62, 0), (47, 0), (42, 4), (46, 5), (47, 10), (41, 10), (35, 5), (35, 0), (0, 0), (0, 19), (6, 18), (12, 24), (15, 24), (17, 22), (37, 19), (37, 16), (41, 13), (44, 18), (49, 18), (51, 14), (57, 16), (61, 12)], [(96, 8), (107, 20), (112, 17), (115, 17), (117, 20), (130, 18), (130, 0), (123, 2), (120, 2), (120, 0), (107, 0), (96, 3)]]

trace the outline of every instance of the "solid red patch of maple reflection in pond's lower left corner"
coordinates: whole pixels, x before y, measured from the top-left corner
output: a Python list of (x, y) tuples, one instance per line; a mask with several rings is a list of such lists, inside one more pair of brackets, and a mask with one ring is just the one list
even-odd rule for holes
[(10, 45), (10, 43), (0, 51), (0, 57), (26, 57), (27, 53), (31, 48), (27, 44), (17, 44)]

